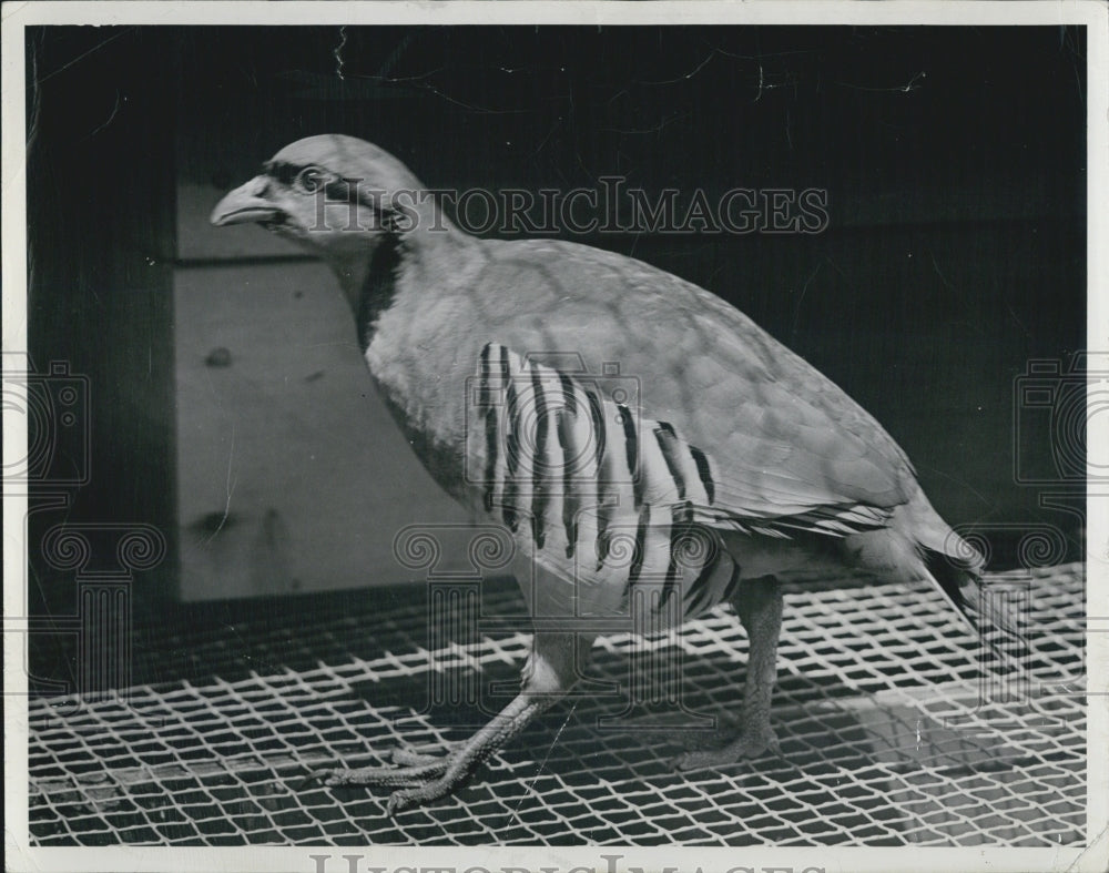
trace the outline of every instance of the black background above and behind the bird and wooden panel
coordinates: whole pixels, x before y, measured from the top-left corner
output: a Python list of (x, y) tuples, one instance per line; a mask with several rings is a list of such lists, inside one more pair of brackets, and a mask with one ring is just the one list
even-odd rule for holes
[[(92, 476), (64, 518), (166, 532), (166, 559), (136, 576), (140, 625), (179, 615), (175, 192), (236, 185), (325, 131), (436, 187), (826, 189), (818, 235), (577, 238), (714, 291), (826, 373), (942, 515), (986, 531), (995, 566), (1037, 525), (1065, 536), (1057, 559), (1081, 555), (1080, 515), (1041, 506), (1065, 484), (1017, 481), (1021, 465), (1051, 478), (1058, 435), (1050, 416), (1017, 428), (1014, 403), (1030, 361), (1066, 370), (1085, 345), (1081, 29), (28, 32), (29, 352), (90, 379)], [(72, 577), (38, 549), (59, 520), (30, 520), (38, 616), (73, 611)], [(69, 656), (35, 639), (39, 674), (64, 676)]]

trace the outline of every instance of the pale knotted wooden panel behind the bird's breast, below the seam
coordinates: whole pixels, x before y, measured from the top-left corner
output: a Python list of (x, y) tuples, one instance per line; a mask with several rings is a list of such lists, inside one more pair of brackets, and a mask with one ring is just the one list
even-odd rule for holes
[(321, 264), (181, 268), (175, 306), (183, 599), (401, 581), (400, 528), (464, 520), (375, 395)]

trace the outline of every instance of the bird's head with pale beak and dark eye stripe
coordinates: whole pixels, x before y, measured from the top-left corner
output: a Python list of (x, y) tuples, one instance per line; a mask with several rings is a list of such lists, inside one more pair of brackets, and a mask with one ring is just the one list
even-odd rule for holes
[(286, 145), (224, 196), (212, 224), (253, 222), (321, 255), (342, 272), (389, 236), (449, 231), (419, 180), (363, 140), (323, 134)]

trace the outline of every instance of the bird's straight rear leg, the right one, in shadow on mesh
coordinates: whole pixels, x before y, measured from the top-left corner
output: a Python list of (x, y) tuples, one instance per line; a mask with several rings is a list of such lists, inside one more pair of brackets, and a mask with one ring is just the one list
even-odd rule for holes
[(743, 692), (740, 735), (722, 749), (686, 752), (678, 758), (681, 770), (732, 764), (757, 758), (767, 749), (777, 751), (770, 723), (770, 700), (777, 678), (777, 639), (782, 629), (782, 591), (772, 576), (743, 581), (732, 605), (747, 632), (747, 680)]

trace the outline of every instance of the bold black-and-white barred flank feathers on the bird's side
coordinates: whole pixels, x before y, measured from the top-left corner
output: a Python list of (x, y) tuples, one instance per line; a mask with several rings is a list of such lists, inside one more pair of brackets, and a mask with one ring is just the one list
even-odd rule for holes
[[(714, 463), (705, 451), (670, 422), (604, 396), (588, 376), (491, 343), (481, 351), (478, 378), (484, 440), (470, 445), (485, 453), (477, 464), (486, 471), (485, 510), (561, 578), (608, 586), (612, 600), (627, 602), (632, 587), (657, 582), (659, 608), (682, 590), (683, 619), (690, 618), (734, 585), (734, 561), (722, 568), (723, 532), (841, 539), (888, 521), (888, 510), (861, 504), (745, 515), (715, 503)], [(586, 537), (596, 562), (578, 559)]]

